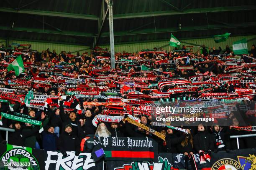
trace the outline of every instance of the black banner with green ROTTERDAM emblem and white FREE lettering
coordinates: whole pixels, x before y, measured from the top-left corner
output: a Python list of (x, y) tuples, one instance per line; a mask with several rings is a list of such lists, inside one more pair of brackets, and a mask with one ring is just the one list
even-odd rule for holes
[[(103, 170), (103, 160), (95, 162), (92, 153), (67, 151), (67, 157), (57, 151), (45, 151), (15, 145), (0, 144), (0, 170)], [(13, 162), (13, 166), (7, 163)], [(6, 166), (4, 166), (6, 165)], [(22, 167), (22, 168), (21, 168)]]

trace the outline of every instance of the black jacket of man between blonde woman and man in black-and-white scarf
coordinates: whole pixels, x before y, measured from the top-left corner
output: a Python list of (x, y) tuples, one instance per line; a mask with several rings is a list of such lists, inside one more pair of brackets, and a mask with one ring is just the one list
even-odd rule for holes
[(214, 143), (212, 141), (212, 137), (209, 133), (205, 131), (198, 131), (198, 133), (194, 137), (194, 148), (196, 152), (203, 150), (207, 152), (208, 150), (214, 150)]

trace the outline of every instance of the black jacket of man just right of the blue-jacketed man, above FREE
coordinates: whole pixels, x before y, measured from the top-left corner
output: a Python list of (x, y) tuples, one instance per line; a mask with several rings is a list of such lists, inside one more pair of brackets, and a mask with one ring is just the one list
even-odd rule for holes
[(59, 137), (57, 148), (61, 153), (64, 153), (64, 151), (79, 152), (80, 141), (76, 135), (64, 132)]

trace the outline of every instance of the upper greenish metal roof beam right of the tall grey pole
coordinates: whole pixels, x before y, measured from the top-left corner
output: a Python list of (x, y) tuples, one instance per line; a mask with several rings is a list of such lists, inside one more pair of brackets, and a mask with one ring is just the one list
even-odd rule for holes
[(197, 14), (197, 13), (220, 13), (220, 12), (241, 11), (241, 10), (242, 11), (256, 10), (256, 5), (195, 8), (195, 9), (183, 10), (182, 12), (170, 10), (170, 11), (155, 11), (155, 12), (147, 12), (147, 13), (115, 14), (113, 15), (113, 19), (144, 18), (144, 17), (153, 17), (153, 16), (184, 15), (184, 14)]

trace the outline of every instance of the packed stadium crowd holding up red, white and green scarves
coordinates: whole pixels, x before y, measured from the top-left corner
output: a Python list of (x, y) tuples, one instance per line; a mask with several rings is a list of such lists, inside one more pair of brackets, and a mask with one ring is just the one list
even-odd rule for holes
[[(92, 143), (88, 141), (97, 136), (148, 137), (159, 143), (159, 152), (189, 155), (203, 151), (210, 155), (237, 149), (236, 139), (230, 139), (230, 135), (253, 133), (232, 127), (239, 127), (241, 117), (247, 126), (255, 124), (255, 112), (247, 114), (240, 109), (241, 102), (235, 102), (255, 109), (255, 45), (248, 55), (234, 55), (228, 45), (225, 50), (202, 45), (196, 52), (185, 46), (170, 51), (123, 51), (115, 53), (115, 69), (110, 67), (109, 51), (101, 48), (92, 50), (91, 55), (57, 53), (49, 48), (42, 52), (1, 49), (0, 91), (21, 96), (22, 100), (0, 94), (0, 111), (16, 116), (21, 113), (28, 120), (42, 122), (41, 126), (34, 125), (2, 114), (2, 127), (15, 130), (8, 138), (12, 145), (59, 150), (65, 156), (69, 150), (76, 154), (90, 152)], [(15, 75), (6, 67), (20, 55), (24, 72)], [(239, 112), (222, 117), (230, 123), (226, 126), (218, 119), (208, 125), (179, 126), (187, 129), (184, 133), (153, 123), (154, 107), (149, 104), (159, 107), (166, 99), (175, 104), (182, 100), (231, 100)], [(123, 118), (118, 121), (111, 116)], [(165, 140), (128, 122), (127, 117), (164, 134)], [(256, 140), (240, 138), (239, 144), (240, 148), (254, 148)]]

